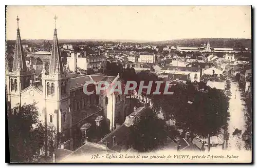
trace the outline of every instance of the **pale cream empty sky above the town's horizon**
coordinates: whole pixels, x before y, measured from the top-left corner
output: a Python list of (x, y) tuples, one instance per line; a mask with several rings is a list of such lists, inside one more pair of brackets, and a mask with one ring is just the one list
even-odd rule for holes
[(6, 38), (59, 39), (251, 38), (250, 6), (8, 6)]

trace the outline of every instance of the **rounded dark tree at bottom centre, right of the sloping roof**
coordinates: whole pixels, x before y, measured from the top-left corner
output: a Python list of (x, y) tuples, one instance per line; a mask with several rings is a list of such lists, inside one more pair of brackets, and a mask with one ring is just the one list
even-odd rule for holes
[(158, 119), (151, 109), (146, 109), (132, 128), (134, 148), (140, 152), (151, 152), (164, 145), (167, 139), (166, 123)]

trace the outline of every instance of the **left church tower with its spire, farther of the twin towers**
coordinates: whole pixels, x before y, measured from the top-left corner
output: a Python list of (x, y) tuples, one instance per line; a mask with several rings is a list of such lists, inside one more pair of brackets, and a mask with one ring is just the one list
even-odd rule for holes
[[(34, 78), (33, 68), (27, 69), (25, 57), (23, 54), (22, 40), (19, 29), (19, 20), (17, 16), (17, 37), (13, 56), (12, 70), (6, 69), (6, 86), (7, 86), (7, 101), (11, 103), (11, 108), (16, 106), (16, 103), (21, 104), (21, 91), (29, 87)], [(32, 62), (30, 62), (31, 65)], [(7, 60), (7, 67), (9, 62)]]

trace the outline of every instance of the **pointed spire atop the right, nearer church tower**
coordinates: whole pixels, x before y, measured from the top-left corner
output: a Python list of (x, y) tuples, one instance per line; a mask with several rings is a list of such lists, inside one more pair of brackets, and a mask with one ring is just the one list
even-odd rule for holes
[[(56, 19), (57, 17), (54, 16), (54, 33), (53, 33), (53, 41), (52, 41), (52, 53), (51, 53), (50, 66), (49, 66), (49, 75), (64, 74), (63, 62), (62, 62), (61, 52), (59, 49), (58, 38), (57, 38)], [(60, 71), (60, 72), (57, 72), (57, 71)]]

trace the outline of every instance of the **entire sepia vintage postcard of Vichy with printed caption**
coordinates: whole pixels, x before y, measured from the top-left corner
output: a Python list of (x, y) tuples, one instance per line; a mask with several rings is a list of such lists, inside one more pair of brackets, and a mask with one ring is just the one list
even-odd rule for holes
[(251, 46), (251, 6), (6, 6), (10, 162), (251, 163)]

